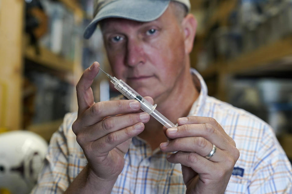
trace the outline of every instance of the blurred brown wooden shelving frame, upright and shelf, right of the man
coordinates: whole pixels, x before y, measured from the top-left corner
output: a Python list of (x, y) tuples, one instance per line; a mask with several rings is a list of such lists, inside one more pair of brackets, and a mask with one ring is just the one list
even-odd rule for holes
[[(213, 2), (216, 3), (216, 2)], [(191, 2), (196, 10), (203, 9), (203, 0)], [(213, 6), (212, 15), (204, 21), (204, 29), (196, 34), (196, 42), (191, 53), (192, 62), (197, 60), (197, 53), (204, 44), (204, 39), (210, 35), (214, 25), (228, 26), (228, 17), (237, 8), (237, 0), (223, 0)], [(210, 11), (210, 10), (209, 10)], [(277, 64), (277, 65), (275, 65)], [(196, 64), (192, 64), (196, 68)], [(290, 69), (292, 71), (292, 35), (282, 38), (276, 42), (262, 45), (249, 52), (242, 53), (231, 60), (218, 60), (207, 66), (205, 70), (199, 71), (205, 79), (215, 79), (216, 97), (226, 101), (228, 78), (235, 75), (256, 75), (263, 71), (280, 71)]]

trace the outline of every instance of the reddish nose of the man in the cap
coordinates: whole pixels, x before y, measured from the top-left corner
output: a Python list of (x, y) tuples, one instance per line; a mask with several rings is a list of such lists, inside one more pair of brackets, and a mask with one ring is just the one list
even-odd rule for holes
[(126, 65), (134, 67), (145, 63), (143, 43), (139, 39), (128, 39)]

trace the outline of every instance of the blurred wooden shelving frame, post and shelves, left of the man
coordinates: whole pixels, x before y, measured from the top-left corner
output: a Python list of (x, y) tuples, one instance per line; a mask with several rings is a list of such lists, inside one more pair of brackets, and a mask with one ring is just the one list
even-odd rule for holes
[[(85, 13), (75, 0), (59, 0), (69, 10), (74, 12), (75, 22), (81, 22)], [(23, 32), (24, 1), (1, 1), (0, 6), (0, 129), (19, 130), (22, 121), (22, 84), (25, 62), (30, 61), (40, 68), (49, 69), (53, 76), (66, 77), (65, 81), (74, 85), (82, 73), (81, 49), (76, 51), (73, 60), (51, 52), (45, 47), (40, 47), (40, 55), (36, 55), (35, 48), (28, 46), (27, 36)], [(9, 18), (9, 19), (7, 19)], [(7, 46), (9, 45), (9, 46)], [(60, 78), (58, 77), (58, 78)], [(72, 97), (76, 101), (75, 94)], [(4, 104), (4, 105), (2, 105)], [(33, 124), (26, 130), (33, 131), (47, 141), (55, 132), (62, 119), (51, 122)]]

